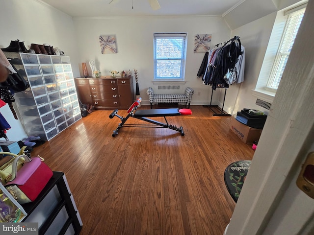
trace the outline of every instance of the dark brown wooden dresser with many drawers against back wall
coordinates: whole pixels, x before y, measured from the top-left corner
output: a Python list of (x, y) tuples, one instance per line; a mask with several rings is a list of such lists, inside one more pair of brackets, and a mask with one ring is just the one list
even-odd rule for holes
[(128, 109), (134, 101), (133, 77), (76, 77), (78, 98), (95, 109)]

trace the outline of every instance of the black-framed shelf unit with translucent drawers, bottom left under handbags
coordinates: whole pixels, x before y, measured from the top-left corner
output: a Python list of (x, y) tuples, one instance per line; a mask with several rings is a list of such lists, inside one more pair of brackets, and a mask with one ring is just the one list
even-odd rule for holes
[(74, 198), (63, 172), (53, 171), (38, 198), (23, 204), (27, 216), (22, 222), (38, 222), (39, 235), (78, 235), (82, 229)]

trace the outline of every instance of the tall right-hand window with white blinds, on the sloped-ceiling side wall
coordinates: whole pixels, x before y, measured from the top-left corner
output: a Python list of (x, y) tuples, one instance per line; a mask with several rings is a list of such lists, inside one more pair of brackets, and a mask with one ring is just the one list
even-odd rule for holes
[(296, 34), (303, 19), (305, 8), (297, 9), (297, 11), (294, 9), (293, 13), (290, 13), (290, 11), (285, 13), (285, 15), (288, 15), (287, 23), (266, 85), (266, 89), (270, 91), (278, 89)]

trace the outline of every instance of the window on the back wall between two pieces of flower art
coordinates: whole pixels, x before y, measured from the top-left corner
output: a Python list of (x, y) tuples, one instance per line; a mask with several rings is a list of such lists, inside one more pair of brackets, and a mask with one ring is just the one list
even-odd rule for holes
[(154, 33), (154, 81), (184, 81), (186, 33)]

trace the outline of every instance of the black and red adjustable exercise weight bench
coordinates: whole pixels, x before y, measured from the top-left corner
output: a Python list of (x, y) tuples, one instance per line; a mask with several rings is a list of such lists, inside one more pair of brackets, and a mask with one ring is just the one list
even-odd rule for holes
[[(121, 120), (121, 123), (118, 125), (117, 129), (113, 131), (112, 136), (115, 137), (118, 135), (118, 131), (121, 127), (159, 127), (159, 128), (169, 128), (181, 133), (181, 136), (184, 136), (183, 127), (178, 128), (177, 126), (170, 125), (166, 119), (166, 117), (171, 116), (181, 116), (181, 115), (191, 115), (192, 111), (190, 109), (144, 109), (137, 110), (138, 105), (141, 103), (141, 98), (138, 98), (128, 109), (128, 115), (124, 118), (119, 116), (118, 110), (114, 110), (109, 118), (118, 117)], [(150, 118), (153, 117), (163, 117), (166, 123), (162, 123), (156, 120), (152, 120)], [(125, 124), (129, 118), (136, 118), (139, 120), (143, 120), (149, 122), (151, 124)]]

